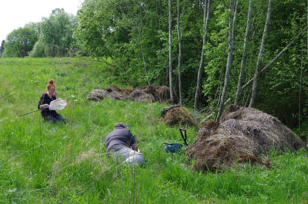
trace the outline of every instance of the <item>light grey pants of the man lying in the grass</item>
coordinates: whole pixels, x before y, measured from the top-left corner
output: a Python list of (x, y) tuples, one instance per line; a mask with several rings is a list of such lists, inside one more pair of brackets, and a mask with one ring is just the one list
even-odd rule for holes
[(128, 147), (119, 149), (115, 152), (117, 156), (120, 156), (121, 159), (124, 159), (123, 163), (127, 163), (129, 165), (137, 164), (141, 166), (144, 162), (144, 156), (135, 150), (132, 150)]

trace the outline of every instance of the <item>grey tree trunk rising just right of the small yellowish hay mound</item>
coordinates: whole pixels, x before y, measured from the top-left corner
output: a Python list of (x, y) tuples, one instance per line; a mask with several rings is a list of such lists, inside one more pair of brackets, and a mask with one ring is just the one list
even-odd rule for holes
[(195, 104), (194, 110), (196, 111), (199, 106), (199, 99), (200, 99), (200, 86), (201, 86), (201, 76), (202, 76), (202, 69), (204, 63), (204, 46), (206, 42), (206, 36), (208, 31), (208, 23), (209, 23), (209, 13), (210, 13), (210, 6), (211, 1), (204, 0), (204, 14), (203, 14), (203, 43), (202, 43), (202, 51), (201, 51), (201, 60), (198, 70), (198, 77), (197, 77), (197, 87), (196, 87), (196, 94), (195, 94)]

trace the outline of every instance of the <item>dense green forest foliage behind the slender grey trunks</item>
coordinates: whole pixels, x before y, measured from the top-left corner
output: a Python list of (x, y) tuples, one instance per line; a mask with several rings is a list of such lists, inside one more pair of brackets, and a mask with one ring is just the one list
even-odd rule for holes
[[(176, 2), (173, 2), (173, 25), (176, 24)], [(235, 23), (233, 64), (227, 97), (236, 92), (241, 55), (247, 23), (248, 1), (239, 1)], [(244, 82), (253, 77), (265, 24), (268, 1), (253, 1), (253, 18), (248, 43), (248, 59)], [(180, 1), (180, 31), (182, 35), (182, 72), (184, 101), (192, 106), (196, 87), (196, 74), (200, 63), (203, 35), (203, 2)], [(213, 1), (210, 10), (208, 40), (205, 45), (205, 68), (202, 91), (203, 105), (216, 107), (220, 84), (223, 83), (228, 53), (229, 1)], [(261, 68), (265, 67), (303, 28), (306, 27), (305, 2), (274, 1), (265, 54)], [(79, 26), (75, 31), (83, 55), (99, 61), (113, 59), (115, 75), (131, 86), (152, 83), (168, 85), (168, 3), (165, 1), (106, 1), (86, 0), (78, 13)], [(90, 23), (91, 22), (91, 23)], [(173, 67), (177, 67), (178, 40), (176, 26), (172, 31)], [(301, 101), (299, 78), (301, 57), (303, 67), (308, 60), (305, 51), (307, 33), (261, 76), (256, 108), (278, 116), (288, 124), (298, 121), (298, 104), (302, 117), (307, 117), (307, 69), (302, 73)], [(144, 73), (144, 62), (148, 75)], [(222, 75), (221, 75), (222, 73)], [(177, 80), (174, 69), (174, 80)], [(221, 75), (221, 76), (220, 76)], [(222, 79), (222, 80), (220, 80)], [(177, 81), (176, 81), (177, 84)], [(245, 90), (241, 105), (245, 105), (251, 88)], [(234, 100), (231, 100), (232, 102)], [(283, 108), (281, 108), (283, 107)]]

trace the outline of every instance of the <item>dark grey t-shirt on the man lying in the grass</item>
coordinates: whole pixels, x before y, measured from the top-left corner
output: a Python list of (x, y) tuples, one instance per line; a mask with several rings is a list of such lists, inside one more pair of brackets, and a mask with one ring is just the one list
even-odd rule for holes
[(124, 147), (130, 147), (135, 143), (135, 137), (132, 135), (131, 131), (125, 128), (117, 128), (113, 130), (105, 139), (107, 153), (115, 152)]

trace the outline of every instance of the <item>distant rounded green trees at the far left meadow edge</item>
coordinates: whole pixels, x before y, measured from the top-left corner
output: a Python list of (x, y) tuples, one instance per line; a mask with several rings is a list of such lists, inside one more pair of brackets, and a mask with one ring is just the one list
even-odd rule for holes
[(76, 16), (52, 10), (41, 22), (29, 22), (6, 37), (5, 57), (61, 57), (76, 52), (73, 29)]

